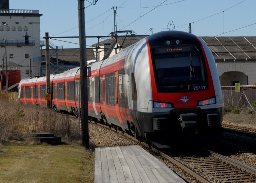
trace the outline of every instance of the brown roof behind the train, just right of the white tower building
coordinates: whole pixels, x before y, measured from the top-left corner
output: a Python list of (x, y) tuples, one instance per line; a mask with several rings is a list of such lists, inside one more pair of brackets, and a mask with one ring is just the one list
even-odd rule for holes
[[(49, 55), (53, 55), (56, 52), (56, 49), (50, 49)], [(56, 59), (57, 55), (54, 54), (51, 58)], [(79, 62), (80, 61), (80, 49), (79, 48), (70, 48), (70, 49), (59, 49), (58, 52), (59, 61), (69, 61), (69, 62)], [(94, 52), (92, 48), (86, 49), (86, 60), (95, 59)]]

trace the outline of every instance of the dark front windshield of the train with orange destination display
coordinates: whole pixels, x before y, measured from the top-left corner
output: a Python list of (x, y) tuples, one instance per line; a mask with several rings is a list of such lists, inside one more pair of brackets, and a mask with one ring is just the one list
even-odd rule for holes
[(153, 53), (158, 92), (190, 91), (192, 85), (208, 88), (205, 65), (196, 46), (155, 48)]

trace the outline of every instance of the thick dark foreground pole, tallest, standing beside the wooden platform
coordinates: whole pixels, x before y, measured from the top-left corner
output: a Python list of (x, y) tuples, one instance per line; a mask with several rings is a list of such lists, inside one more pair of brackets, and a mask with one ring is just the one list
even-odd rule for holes
[[(79, 44), (80, 44), (80, 89), (81, 91), (81, 127), (82, 145), (89, 148), (88, 94), (87, 94), (87, 62), (86, 37), (84, 21), (84, 0), (78, 1)], [(80, 104), (79, 104), (80, 105)]]

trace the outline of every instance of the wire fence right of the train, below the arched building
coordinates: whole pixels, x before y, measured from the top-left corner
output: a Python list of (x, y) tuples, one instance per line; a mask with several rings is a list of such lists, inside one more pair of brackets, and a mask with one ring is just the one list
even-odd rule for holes
[(254, 110), (256, 101), (256, 86), (240, 86), (240, 92), (236, 86), (221, 86), (224, 100), (224, 110), (231, 111), (234, 108)]

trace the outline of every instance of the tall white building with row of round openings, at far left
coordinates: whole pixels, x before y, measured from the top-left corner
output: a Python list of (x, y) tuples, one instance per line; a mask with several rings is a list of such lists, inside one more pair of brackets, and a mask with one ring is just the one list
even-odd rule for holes
[(21, 79), (30, 75), (30, 59), (32, 76), (39, 74), (41, 16), (39, 10), (0, 10), (0, 56), (6, 52), (7, 62), (22, 66)]

